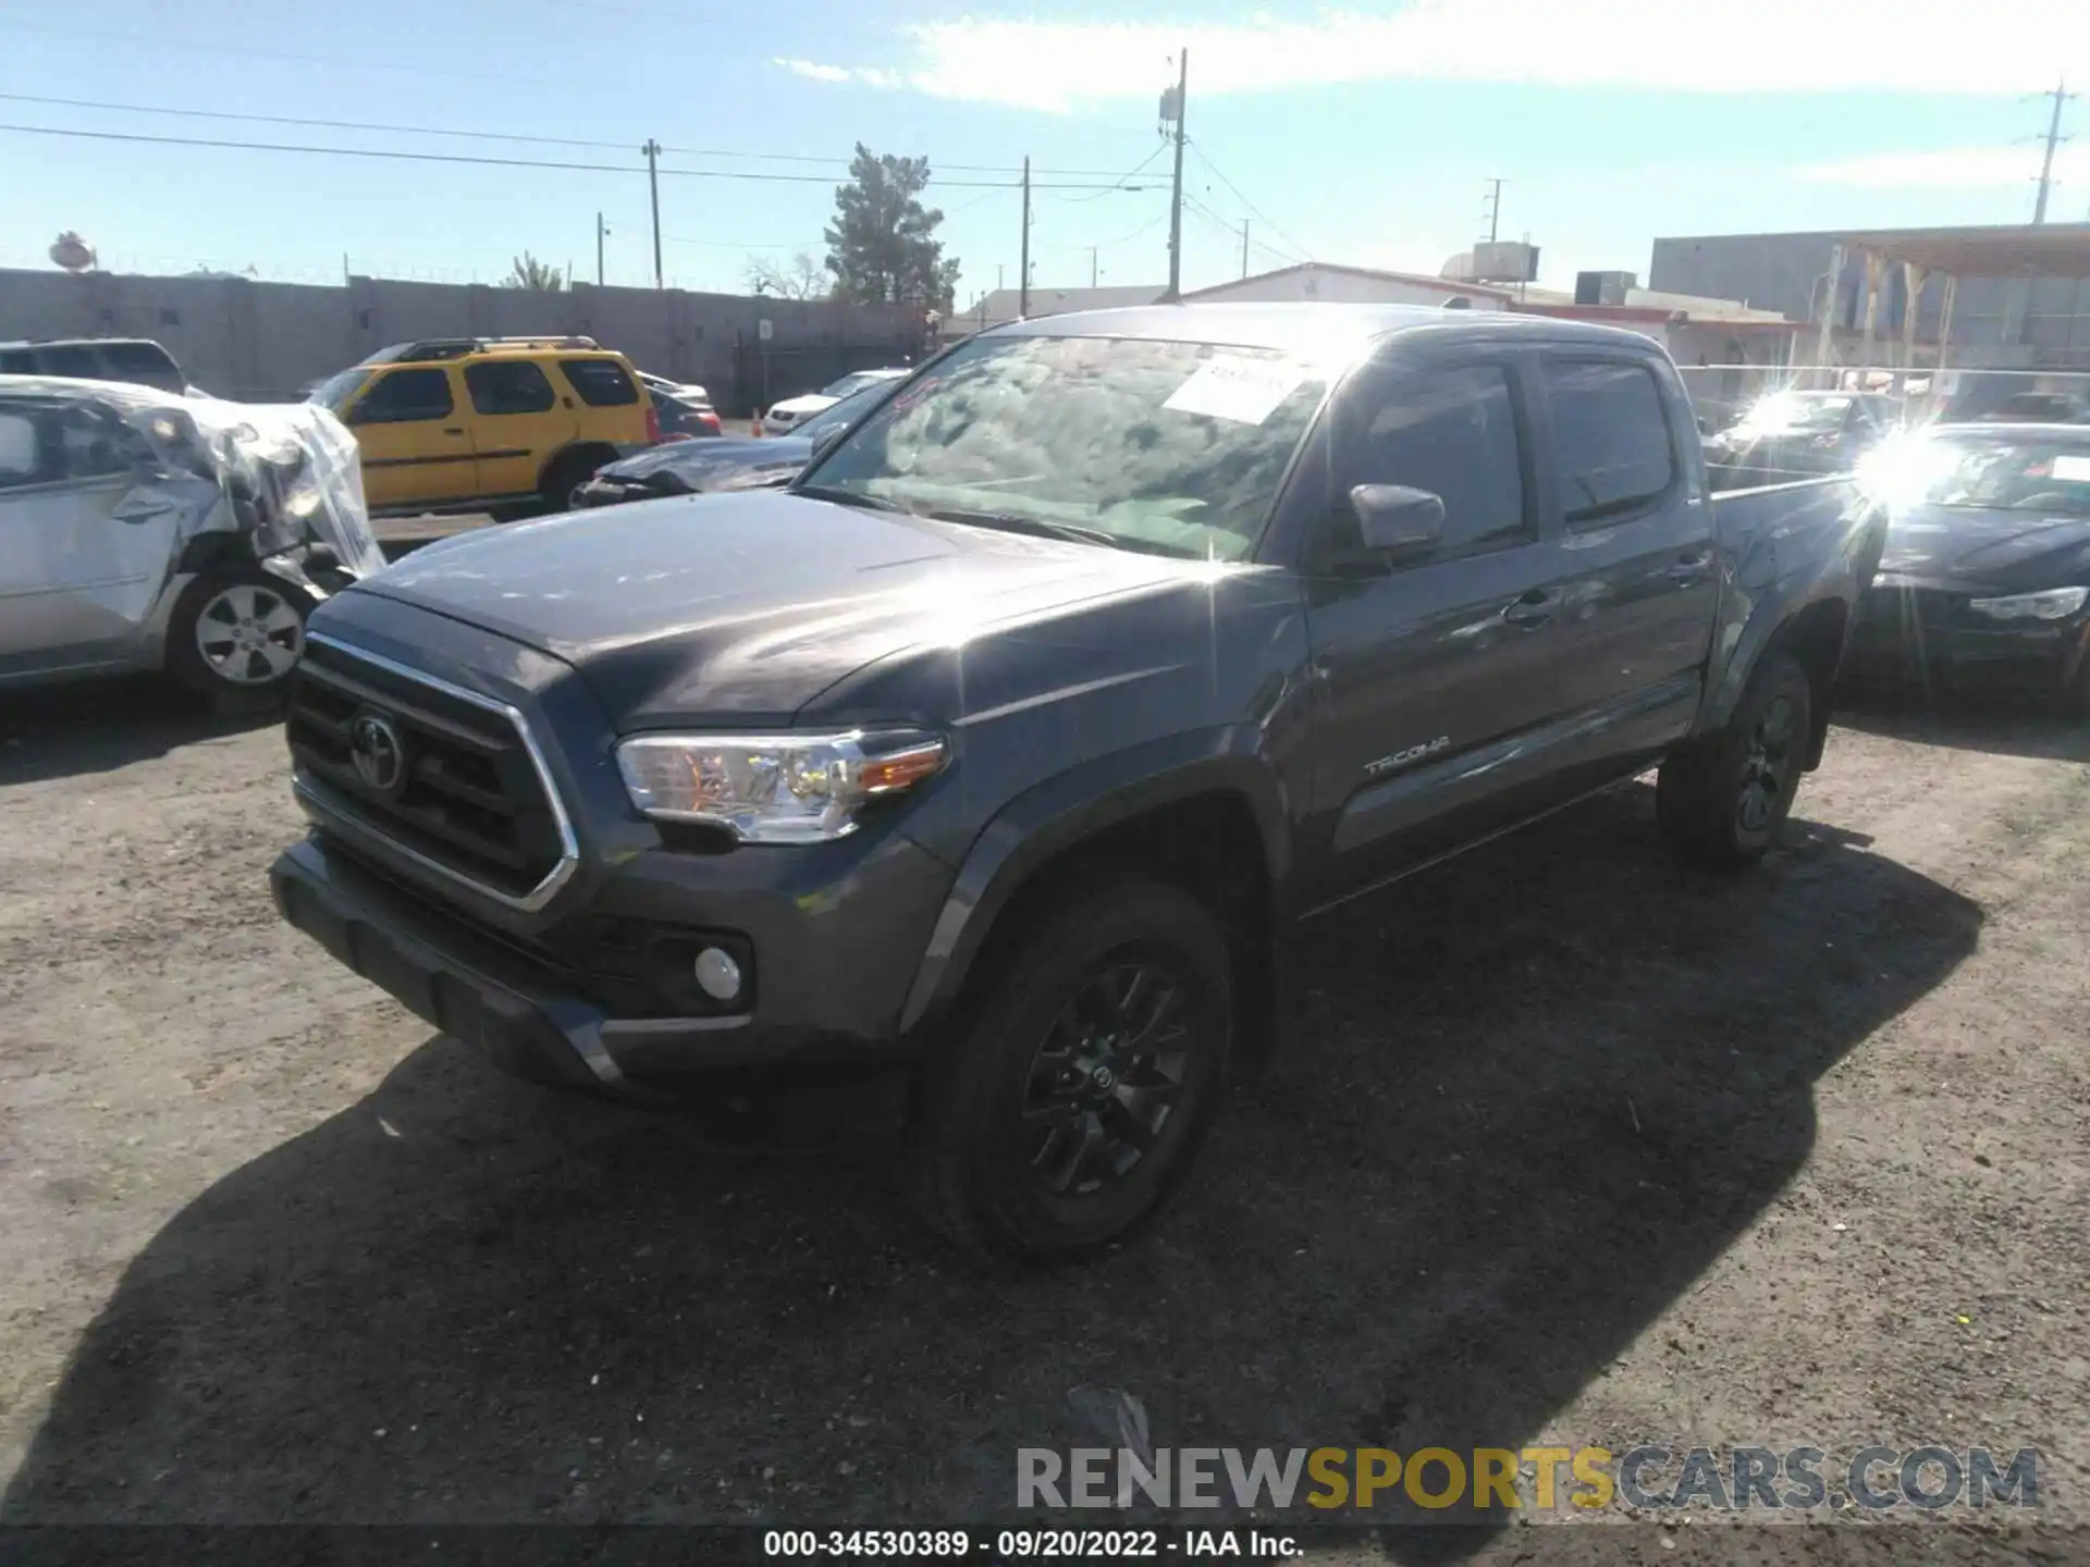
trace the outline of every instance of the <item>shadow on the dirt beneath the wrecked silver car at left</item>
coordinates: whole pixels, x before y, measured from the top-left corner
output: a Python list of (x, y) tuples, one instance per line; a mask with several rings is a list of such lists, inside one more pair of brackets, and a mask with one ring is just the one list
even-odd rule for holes
[(201, 696), (157, 675), (0, 692), (0, 786), (113, 773), (280, 719), (274, 704), (215, 712)]

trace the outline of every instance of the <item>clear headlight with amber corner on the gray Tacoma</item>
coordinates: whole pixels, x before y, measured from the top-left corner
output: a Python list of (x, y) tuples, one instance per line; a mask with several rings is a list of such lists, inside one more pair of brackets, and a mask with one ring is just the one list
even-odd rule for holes
[(640, 735), (617, 748), (631, 804), (709, 821), (746, 844), (815, 844), (855, 832), (865, 802), (903, 794), (949, 758), (922, 729), (838, 735)]

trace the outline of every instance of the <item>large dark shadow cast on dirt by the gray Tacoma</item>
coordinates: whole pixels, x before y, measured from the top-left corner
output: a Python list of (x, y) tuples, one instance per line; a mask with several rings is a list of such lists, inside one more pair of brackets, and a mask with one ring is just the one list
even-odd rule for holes
[(1517, 1448), (1668, 1354), (1641, 1331), (1799, 1170), (1816, 1078), (1981, 923), (1806, 823), (1695, 880), (1651, 817), (1636, 786), (1308, 926), (1296, 1059), (1076, 1270), (957, 1266), (876, 1130), (721, 1149), (431, 1040), (130, 1264), (0, 1517), (1007, 1517), (1018, 1448), (1101, 1440), (1083, 1383), (1168, 1448)]

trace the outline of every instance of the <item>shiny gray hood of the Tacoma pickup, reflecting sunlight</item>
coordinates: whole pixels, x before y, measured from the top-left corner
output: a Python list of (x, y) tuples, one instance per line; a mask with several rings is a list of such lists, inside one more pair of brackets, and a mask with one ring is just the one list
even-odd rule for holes
[(907, 648), (1185, 581), (1198, 562), (744, 491), (487, 529), (355, 593), (581, 671), (619, 731), (788, 723)]

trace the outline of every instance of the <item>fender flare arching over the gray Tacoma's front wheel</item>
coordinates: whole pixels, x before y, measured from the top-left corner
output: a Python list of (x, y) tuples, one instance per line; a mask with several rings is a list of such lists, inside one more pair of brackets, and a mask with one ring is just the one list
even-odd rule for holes
[(1018, 794), (972, 840), (915, 965), (901, 1032), (951, 1009), (995, 921), (1043, 865), (1145, 811), (1204, 794), (1248, 802), (1281, 909), (1292, 882), (1292, 823), (1254, 725), (1191, 729), (1093, 756)]

